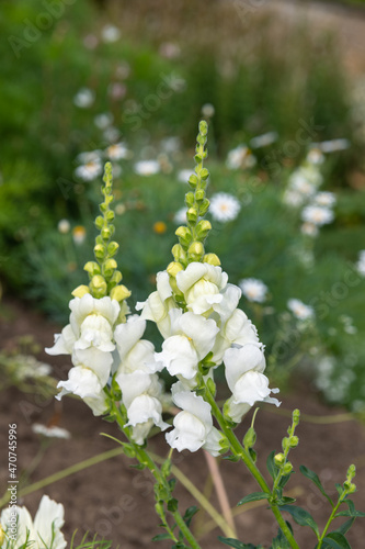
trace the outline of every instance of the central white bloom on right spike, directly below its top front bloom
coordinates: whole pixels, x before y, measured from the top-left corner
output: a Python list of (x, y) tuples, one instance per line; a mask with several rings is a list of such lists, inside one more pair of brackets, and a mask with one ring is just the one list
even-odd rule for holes
[(219, 328), (215, 321), (194, 313), (170, 312), (171, 333), (162, 344), (162, 351), (155, 355), (171, 376), (193, 380), (198, 362), (213, 349)]

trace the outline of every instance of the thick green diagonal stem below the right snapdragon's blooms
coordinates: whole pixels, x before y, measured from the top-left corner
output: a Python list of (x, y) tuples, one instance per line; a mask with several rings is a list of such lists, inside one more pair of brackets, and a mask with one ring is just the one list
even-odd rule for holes
[(276, 505), (276, 503), (274, 503), (272, 501), (272, 491), (270, 490), (270, 486), (267, 485), (265, 479), (263, 478), (263, 475), (259, 471), (255, 463), (252, 461), (252, 458), (249, 455), (249, 452), (242, 447), (242, 445), (240, 444), (240, 441), (238, 440), (238, 438), (236, 437), (236, 435), (231, 430), (231, 428), (227, 426), (226, 421), (225, 421), (219, 407), (217, 406), (215, 399), (214, 399), (213, 394), (210, 393), (208, 386), (206, 386), (205, 394), (206, 394), (207, 402), (210, 404), (212, 411), (219, 423), (221, 430), (224, 432), (224, 434), (226, 435), (226, 437), (230, 444), (232, 453), (235, 456), (238, 456), (243, 461), (243, 463), (246, 464), (246, 467), (248, 468), (248, 470), (250, 471), (252, 477), (258, 482), (261, 490), (263, 492), (265, 492), (266, 494), (269, 494), (269, 498), (267, 498), (269, 504), (271, 506), (271, 509), (272, 509), (272, 512), (276, 518), (276, 522), (280, 525), (284, 536), (286, 537), (286, 539), (290, 544), (292, 549), (299, 549), (299, 546), (296, 542), (296, 540), (294, 539), (294, 536), (293, 536), (290, 529), (288, 528), (285, 519), (283, 518), (278, 506)]

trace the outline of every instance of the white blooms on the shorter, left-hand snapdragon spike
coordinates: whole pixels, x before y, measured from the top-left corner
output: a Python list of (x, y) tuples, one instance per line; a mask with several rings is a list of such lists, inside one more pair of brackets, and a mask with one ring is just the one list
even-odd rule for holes
[(71, 300), (69, 306), (70, 324), (55, 336), (54, 347), (46, 349), (48, 355), (71, 355), (73, 367), (68, 380), (58, 383), (57, 399), (76, 394), (94, 415), (102, 415), (107, 412), (104, 388), (115, 374), (133, 439), (144, 444), (152, 425), (166, 429), (162, 386), (156, 373), (161, 365), (156, 361), (153, 345), (141, 339), (146, 321), (133, 315), (121, 323), (117, 301), (89, 293)]

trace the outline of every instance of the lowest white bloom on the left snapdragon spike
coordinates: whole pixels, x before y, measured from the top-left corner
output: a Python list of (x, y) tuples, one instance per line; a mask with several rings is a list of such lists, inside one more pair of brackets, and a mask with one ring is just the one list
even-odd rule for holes
[(118, 373), (115, 379), (127, 408), (128, 423), (125, 426), (133, 427), (135, 442), (142, 445), (153, 425), (161, 430), (170, 427), (162, 419), (162, 388), (156, 374), (149, 376), (137, 370), (133, 373)]

